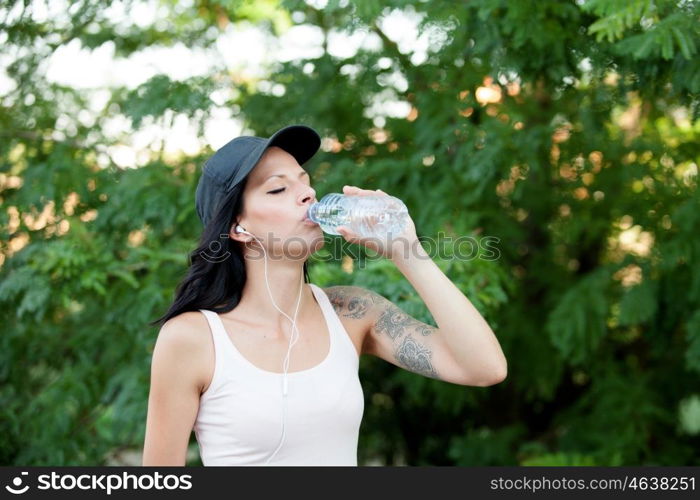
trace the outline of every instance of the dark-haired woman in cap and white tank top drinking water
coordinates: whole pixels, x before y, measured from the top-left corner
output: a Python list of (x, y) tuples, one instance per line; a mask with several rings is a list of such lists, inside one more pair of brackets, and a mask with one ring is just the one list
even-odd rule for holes
[(294, 125), (269, 139), (238, 137), (205, 164), (200, 246), (154, 322), (162, 327), (143, 465), (184, 465), (193, 429), (204, 465), (357, 465), (362, 354), (454, 384), (505, 378), (496, 337), (425, 253), (410, 219), (389, 242), (339, 232), (391, 259), (438, 328), (371, 290), (309, 283), (306, 260), (324, 237), (306, 219), (316, 193), (302, 165), (319, 146), (314, 130)]

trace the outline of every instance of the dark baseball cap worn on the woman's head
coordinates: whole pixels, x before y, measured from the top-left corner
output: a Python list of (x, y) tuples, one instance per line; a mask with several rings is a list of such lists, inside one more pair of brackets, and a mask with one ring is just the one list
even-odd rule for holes
[(303, 165), (318, 151), (321, 137), (306, 125), (289, 125), (267, 139), (243, 135), (224, 144), (206, 161), (197, 184), (195, 205), (202, 224), (207, 225), (221, 201), (271, 146), (284, 149)]

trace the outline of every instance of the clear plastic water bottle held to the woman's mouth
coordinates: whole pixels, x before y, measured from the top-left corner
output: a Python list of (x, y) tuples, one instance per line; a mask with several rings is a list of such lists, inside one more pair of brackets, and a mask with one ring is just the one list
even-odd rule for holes
[(346, 226), (360, 237), (384, 238), (403, 232), (408, 209), (394, 196), (330, 193), (311, 205), (307, 215), (328, 234), (340, 234), (335, 228)]

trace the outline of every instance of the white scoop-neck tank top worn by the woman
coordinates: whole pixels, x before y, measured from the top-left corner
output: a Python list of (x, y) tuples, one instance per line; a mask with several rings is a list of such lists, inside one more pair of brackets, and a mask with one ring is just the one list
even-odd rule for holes
[[(326, 320), (330, 348), (320, 364), (287, 373), (285, 438), (269, 465), (357, 465), (364, 412), (359, 357), (326, 293), (309, 286)], [(202, 464), (264, 465), (282, 436), (283, 374), (248, 361), (219, 315), (200, 311), (216, 352), (214, 375), (200, 396), (194, 424)]]

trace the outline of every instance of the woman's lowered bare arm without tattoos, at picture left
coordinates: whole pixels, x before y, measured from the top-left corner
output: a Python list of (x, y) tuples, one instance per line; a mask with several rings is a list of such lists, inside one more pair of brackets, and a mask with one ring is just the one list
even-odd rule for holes
[(143, 465), (185, 465), (187, 445), (199, 410), (202, 360), (208, 331), (201, 313), (167, 321), (153, 349)]

